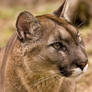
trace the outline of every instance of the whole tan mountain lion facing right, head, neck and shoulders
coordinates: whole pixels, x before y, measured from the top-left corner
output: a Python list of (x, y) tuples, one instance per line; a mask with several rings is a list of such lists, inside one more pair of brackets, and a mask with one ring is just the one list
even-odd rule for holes
[(0, 92), (75, 91), (88, 58), (79, 31), (65, 17), (67, 2), (52, 15), (19, 14), (16, 33), (0, 50)]

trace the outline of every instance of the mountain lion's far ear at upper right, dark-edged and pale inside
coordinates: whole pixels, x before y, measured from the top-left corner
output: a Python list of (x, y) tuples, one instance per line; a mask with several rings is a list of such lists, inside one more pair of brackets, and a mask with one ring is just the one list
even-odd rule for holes
[(61, 6), (53, 14), (57, 17), (65, 18), (75, 26), (79, 26), (82, 24), (77, 10), (80, 2), (80, 0), (63, 0)]

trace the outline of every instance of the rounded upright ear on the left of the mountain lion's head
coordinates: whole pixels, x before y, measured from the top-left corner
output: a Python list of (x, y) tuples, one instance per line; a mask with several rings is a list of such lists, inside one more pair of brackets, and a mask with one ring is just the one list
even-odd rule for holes
[(17, 18), (16, 28), (20, 40), (37, 38), (36, 33), (40, 29), (40, 23), (31, 13), (21, 12)]

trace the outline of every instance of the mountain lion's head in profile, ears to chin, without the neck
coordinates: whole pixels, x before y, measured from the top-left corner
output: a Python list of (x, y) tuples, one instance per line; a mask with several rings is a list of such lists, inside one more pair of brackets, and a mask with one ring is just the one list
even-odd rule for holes
[(66, 18), (66, 6), (64, 2), (52, 15), (35, 17), (27, 11), (19, 14), (17, 35), (30, 70), (77, 77), (87, 69), (85, 46), (78, 29)]

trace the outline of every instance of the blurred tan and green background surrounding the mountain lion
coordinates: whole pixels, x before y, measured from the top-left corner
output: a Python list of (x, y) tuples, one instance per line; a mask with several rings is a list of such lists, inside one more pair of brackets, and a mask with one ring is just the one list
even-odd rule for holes
[[(34, 15), (52, 13), (62, 2), (63, 0), (0, 0), (0, 47), (5, 46), (16, 31), (16, 19), (21, 11), (27, 10)], [(81, 23), (78, 28), (89, 57), (89, 69), (78, 82), (77, 92), (92, 92), (92, 0), (79, 0), (78, 5), (74, 5), (73, 2), (71, 14), (75, 16), (75, 21)]]

